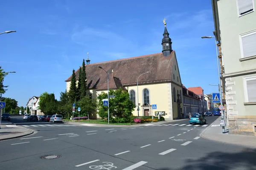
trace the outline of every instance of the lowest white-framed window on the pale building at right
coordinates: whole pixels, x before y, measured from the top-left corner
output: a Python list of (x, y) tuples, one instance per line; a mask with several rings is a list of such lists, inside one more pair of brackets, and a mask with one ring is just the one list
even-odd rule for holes
[(244, 77), (245, 102), (256, 102), (256, 76)]

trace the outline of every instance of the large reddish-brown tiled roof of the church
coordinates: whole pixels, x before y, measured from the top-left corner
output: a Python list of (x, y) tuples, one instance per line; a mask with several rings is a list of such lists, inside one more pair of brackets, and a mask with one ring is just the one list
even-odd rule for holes
[[(107, 62), (99, 62), (86, 65), (87, 86), (89, 89), (107, 89), (107, 75), (101, 66), (108, 72), (109, 88), (117, 88), (123, 85), (136, 85), (140, 74), (151, 71), (140, 77), (139, 84), (169, 82), (172, 78), (172, 66), (175, 51), (164, 57), (163, 53), (150, 54), (140, 57), (118, 59)], [(113, 79), (111, 71), (113, 70)], [(76, 80), (79, 77), (79, 69), (76, 70)], [(71, 76), (66, 82), (71, 81)]]

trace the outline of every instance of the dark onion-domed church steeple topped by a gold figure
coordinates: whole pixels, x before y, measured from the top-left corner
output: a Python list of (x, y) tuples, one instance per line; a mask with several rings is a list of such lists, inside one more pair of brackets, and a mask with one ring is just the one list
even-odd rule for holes
[(163, 39), (162, 39), (162, 45), (163, 45), (163, 55), (165, 57), (169, 56), (172, 52), (172, 40), (169, 37), (169, 33), (166, 28), (166, 19), (163, 20), (164, 23), (164, 32), (163, 32)]

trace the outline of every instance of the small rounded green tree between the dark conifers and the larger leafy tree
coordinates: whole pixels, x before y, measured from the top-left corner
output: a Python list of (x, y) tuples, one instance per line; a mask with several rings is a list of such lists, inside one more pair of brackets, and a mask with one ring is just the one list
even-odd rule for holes
[(77, 102), (77, 107), (81, 108), (80, 116), (91, 116), (97, 109), (96, 99), (91, 99), (90, 96), (84, 96)]

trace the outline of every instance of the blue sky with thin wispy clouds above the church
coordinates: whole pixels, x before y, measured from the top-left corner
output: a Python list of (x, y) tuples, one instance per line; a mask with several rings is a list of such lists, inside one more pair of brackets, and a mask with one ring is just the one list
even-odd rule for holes
[(162, 51), (163, 19), (176, 51), (182, 83), (218, 91), (210, 0), (12, 0), (1, 3), (0, 65), (16, 71), (4, 79), (4, 97), (25, 106), (32, 96), (65, 91), (64, 82), (90, 63)]

